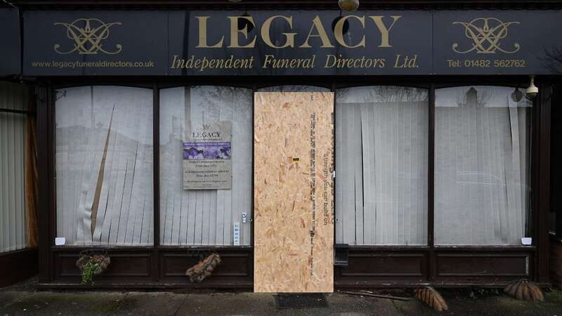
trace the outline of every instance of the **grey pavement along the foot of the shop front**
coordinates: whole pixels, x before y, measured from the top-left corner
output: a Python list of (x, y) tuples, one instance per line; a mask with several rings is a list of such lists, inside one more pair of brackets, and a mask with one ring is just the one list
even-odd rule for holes
[[(411, 298), (327, 294), (327, 308), (278, 310), (275, 294), (210, 292), (33, 292), (0, 291), (0, 316), (8, 315), (558, 315), (562, 291), (545, 291), (545, 301), (517, 301), (501, 290), (440, 289), (449, 310), (434, 312)], [(400, 296), (410, 296), (411, 291)]]

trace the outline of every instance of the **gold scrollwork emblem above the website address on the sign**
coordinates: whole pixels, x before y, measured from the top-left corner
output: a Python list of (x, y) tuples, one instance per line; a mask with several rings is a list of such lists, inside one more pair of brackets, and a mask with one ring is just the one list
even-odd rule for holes
[(98, 51), (114, 55), (122, 50), (121, 44), (115, 45), (117, 51), (106, 51), (102, 41), (110, 36), (110, 27), (121, 25), (120, 22), (105, 23), (99, 19), (78, 19), (72, 23), (57, 22), (55, 25), (66, 27), (67, 37), (74, 40), (74, 47), (70, 51), (60, 51), (60, 44), (55, 44), (55, 51), (60, 54), (70, 54), (77, 51), (80, 55), (93, 55)]

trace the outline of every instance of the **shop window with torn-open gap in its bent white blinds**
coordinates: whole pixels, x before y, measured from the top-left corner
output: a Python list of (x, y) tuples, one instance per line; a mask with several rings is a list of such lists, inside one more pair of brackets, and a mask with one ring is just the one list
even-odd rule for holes
[(57, 96), (57, 236), (151, 245), (152, 90), (85, 86)]

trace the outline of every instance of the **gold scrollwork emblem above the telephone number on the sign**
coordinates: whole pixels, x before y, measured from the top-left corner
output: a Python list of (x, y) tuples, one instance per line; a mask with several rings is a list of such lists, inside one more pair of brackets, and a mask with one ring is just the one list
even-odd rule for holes
[(476, 51), (476, 53), (490, 54), (496, 51), (502, 53), (515, 53), (519, 51), (521, 46), (518, 43), (514, 44), (513, 51), (507, 51), (500, 47), (499, 41), (507, 37), (507, 28), (512, 24), (519, 24), (519, 22), (502, 22), (497, 18), (476, 18), (470, 22), (453, 22), (452, 24), (459, 24), (464, 26), (464, 34), (469, 39), (472, 39), (472, 47), (466, 51), (459, 51), (458, 43), (452, 44), (453, 51), (461, 54)]

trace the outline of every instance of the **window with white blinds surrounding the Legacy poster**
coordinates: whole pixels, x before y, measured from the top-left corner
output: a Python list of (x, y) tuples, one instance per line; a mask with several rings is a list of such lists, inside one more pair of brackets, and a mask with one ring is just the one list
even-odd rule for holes
[[(192, 86), (160, 92), (160, 230), (165, 245), (249, 246), (251, 225), (252, 93), (245, 88)], [(232, 123), (232, 190), (183, 190), (183, 142), (192, 126)]]

